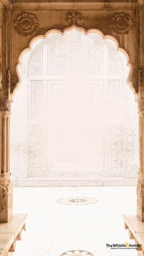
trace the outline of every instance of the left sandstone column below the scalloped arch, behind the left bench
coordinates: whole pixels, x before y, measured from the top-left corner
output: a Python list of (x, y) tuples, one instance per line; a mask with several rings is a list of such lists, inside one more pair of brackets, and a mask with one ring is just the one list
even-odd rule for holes
[(12, 218), (12, 183), (9, 168), (10, 99), (0, 98), (0, 222)]

